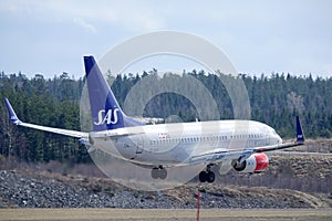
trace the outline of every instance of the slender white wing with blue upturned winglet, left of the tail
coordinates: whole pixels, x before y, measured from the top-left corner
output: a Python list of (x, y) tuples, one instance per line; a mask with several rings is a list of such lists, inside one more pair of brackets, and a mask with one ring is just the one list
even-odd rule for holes
[(4, 98), (4, 104), (7, 106), (7, 109), (8, 109), (9, 116), (10, 116), (10, 120), (15, 125), (29, 127), (29, 128), (33, 128), (33, 129), (39, 129), (39, 130), (43, 130), (43, 131), (50, 131), (50, 133), (54, 133), (54, 134), (65, 135), (65, 136), (70, 136), (70, 137), (75, 137), (75, 138), (87, 138), (89, 137), (89, 133), (84, 133), (84, 131), (59, 129), (59, 128), (54, 128), (54, 127), (45, 127), (45, 126), (23, 123), (17, 116), (17, 114), (13, 110), (8, 98)]

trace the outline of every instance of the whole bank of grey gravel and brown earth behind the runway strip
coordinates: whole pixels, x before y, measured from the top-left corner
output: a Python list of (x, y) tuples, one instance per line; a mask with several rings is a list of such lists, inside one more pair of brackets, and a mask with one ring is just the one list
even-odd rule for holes
[[(96, 185), (101, 183), (101, 185)], [(0, 170), (1, 208), (196, 208), (197, 185), (144, 192), (114, 185), (111, 180)], [(200, 188), (201, 208), (331, 208), (332, 196), (269, 188)]]

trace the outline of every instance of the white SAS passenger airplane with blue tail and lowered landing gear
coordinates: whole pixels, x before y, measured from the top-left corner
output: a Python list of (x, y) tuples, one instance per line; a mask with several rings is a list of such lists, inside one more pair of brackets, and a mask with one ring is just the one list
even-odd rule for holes
[(124, 114), (94, 56), (83, 57), (93, 131), (76, 131), (21, 122), (4, 98), (13, 124), (79, 138), (89, 150), (98, 149), (116, 158), (151, 169), (153, 179), (166, 179), (167, 168), (203, 165), (200, 182), (214, 182), (220, 173), (261, 172), (269, 166), (266, 152), (300, 146), (304, 134), (295, 118), (294, 141), (282, 143), (276, 130), (255, 120), (210, 120), (145, 125)]

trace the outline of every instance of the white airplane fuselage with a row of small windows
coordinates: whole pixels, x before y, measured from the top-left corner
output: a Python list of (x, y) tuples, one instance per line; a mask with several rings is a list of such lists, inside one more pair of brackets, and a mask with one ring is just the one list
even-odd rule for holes
[[(126, 130), (126, 136), (122, 136)], [(118, 136), (90, 134), (94, 148), (139, 165), (189, 165), (191, 157), (209, 151), (240, 150), (281, 144), (270, 126), (252, 120), (160, 124), (112, 130)], [(132, 134), (132, 135), (131, 135)]]

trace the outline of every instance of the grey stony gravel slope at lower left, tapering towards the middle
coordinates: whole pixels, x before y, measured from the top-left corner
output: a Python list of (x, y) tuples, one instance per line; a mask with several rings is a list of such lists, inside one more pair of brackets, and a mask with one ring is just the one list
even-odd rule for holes
[[(14, 171), (0, 171), (0, 207), (28, 208), (173, 208), (159, 196), (144, 200), (131, 191), (95, 192), (51, 178), (34, 178)], [(157, 207), (157, 208), (159, 208)]]

